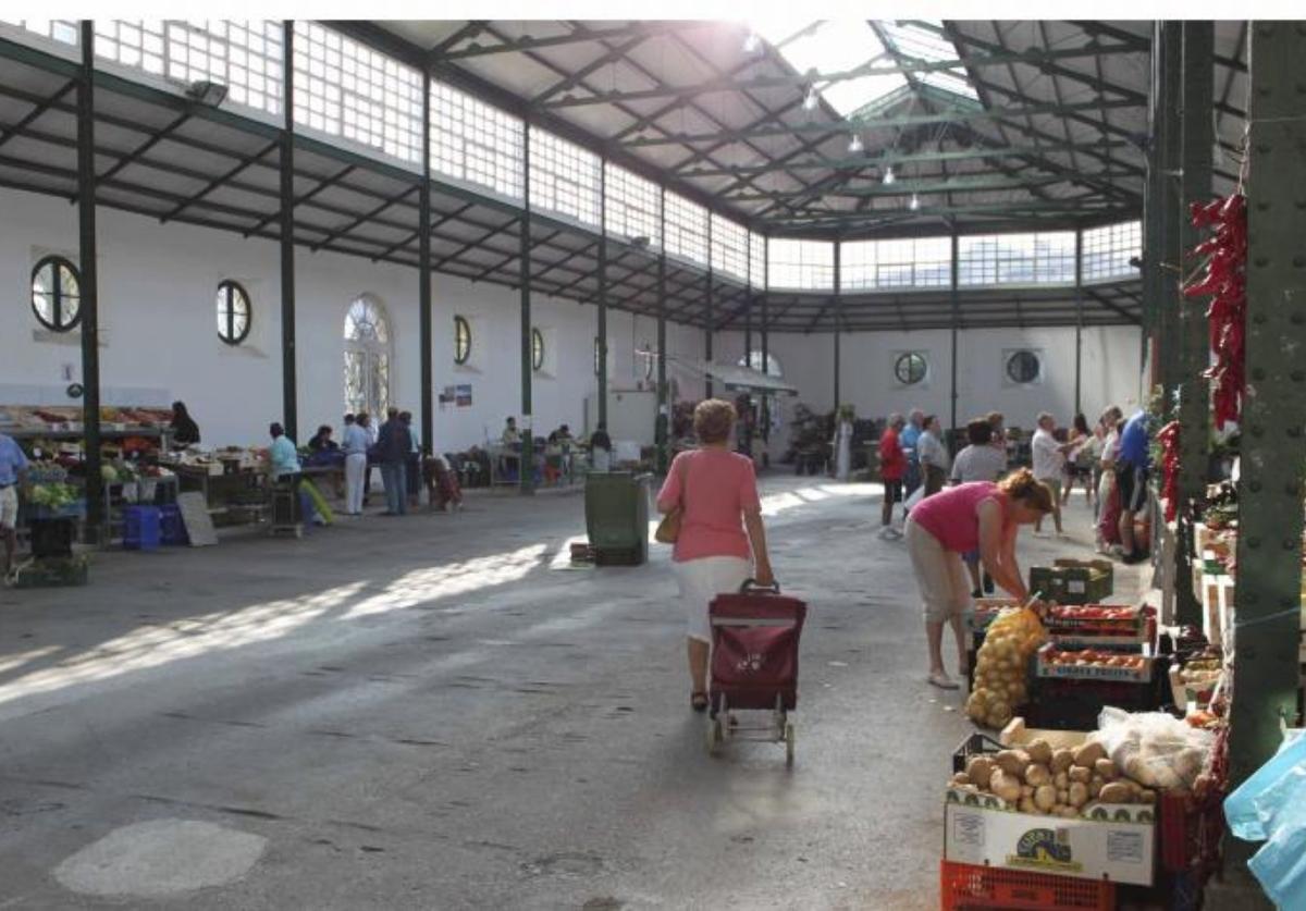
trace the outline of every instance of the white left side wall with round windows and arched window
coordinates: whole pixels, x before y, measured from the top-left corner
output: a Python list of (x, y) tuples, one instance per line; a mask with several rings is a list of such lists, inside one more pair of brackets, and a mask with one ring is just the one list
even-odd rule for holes
[[(106, 405), (167, 405), (180, 398), (206, 445), (260, 444), (281, 419), (281, 304), (278, 245), (187, 224), (159, 224), (114, 209), (99, 210), (101, 377)], [(56, 252), (77, 261), (77, 209), (33, 193), (0, 191), (0, 403), (67, 403), (65, 365), (81, 376), (80, 333), (56, 335), (31, 315), (31, 268)], [(240, 346), (217, 335), (214, 294), (236, 279), (253, 303)], [(343, 411), (343, 321), (354, 298), (370, 294), (393, 332), (392, 401), (421, 403), (417, 270), (336, 253), (296, 249), (299, 432), (340, 424)], [(462, 449), (498, 437), (507, 415), (521, 414), (520, 304), (512, 288), (436, 275), (432, 363), (436, 395), (470, 384), (473, 406), (436, 406), (436, 445)], [(597, 311), (534, 295), (533, 322), (545, 334), (545, 365), (534, 376), (538, 433), (560, 423), (584, 425), (586, 397), (597, 392)], [(453, 363), (453, 316), (471, 324), (471, 358)], [(609, 313), (609, 380), (631, 389), (644, 378), (636, 347), (656, 346), (649, 317)], [(701, 334), (667, 326), (669, 354), (699, 356)], [(682, 389), (687, 377), (671, 371)]]

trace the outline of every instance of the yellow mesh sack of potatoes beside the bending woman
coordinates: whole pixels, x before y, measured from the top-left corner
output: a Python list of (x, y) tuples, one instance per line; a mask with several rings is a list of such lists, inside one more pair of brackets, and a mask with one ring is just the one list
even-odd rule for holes
[(972, 720), (1006, 727), (1028, 697), (1029, 656), (1046, 641), (1047, 630), (1029, 608), (1008, 607), (994, 619), (976, 655), (976, 684), (966, 700)]

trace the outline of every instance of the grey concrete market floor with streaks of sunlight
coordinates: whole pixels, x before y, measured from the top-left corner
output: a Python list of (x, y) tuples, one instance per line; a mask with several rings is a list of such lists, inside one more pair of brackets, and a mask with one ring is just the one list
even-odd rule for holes
[[(580, 496), (0, 593), (0, 908), (938, 907), (970, 726), (923, 680), (904, 547), (878, 488), (764, 493), (811, 604), (793, 770), (707, 756), (666, 548), (559, 568)], [(1087, 552), (1076, 504), (1027, 565)]]

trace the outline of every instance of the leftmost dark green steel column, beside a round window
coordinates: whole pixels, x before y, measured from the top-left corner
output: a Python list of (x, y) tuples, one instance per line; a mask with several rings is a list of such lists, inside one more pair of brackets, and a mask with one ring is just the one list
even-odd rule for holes
[(82, 428), (86, 444), (86, 538), (99, 543), (104, 483), (99, 458), (99, 278), (95, 244), (95, 23), (81, 21), (77, 84), (77, 261), (81, 265)]

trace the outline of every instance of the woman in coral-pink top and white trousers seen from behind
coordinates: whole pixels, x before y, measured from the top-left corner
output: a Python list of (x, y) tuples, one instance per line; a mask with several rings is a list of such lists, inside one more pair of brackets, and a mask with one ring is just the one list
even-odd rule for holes
[(730, 452), (734, 422), (730, 402), (700, 402), (693, 410), (699, 448), (675, 457), (657, 496), (658, 512), (683, 510), (671, 559), (690, 617), (690, 705), (695, 711), (708, 707), (708, 604), (721, 593), (738, 591), (748, 577), (761, 585), (774, 581), (752, 461)]

